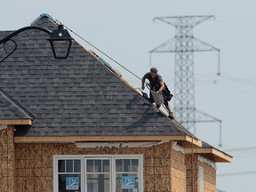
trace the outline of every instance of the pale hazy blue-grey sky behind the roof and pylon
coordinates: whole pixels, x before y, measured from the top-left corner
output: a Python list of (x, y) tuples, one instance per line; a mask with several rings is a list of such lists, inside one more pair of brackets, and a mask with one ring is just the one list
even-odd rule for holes
[[(215, 15), (194, 28), (194, 35), (220, 49), (220, 76), (216, 76), (217, 52), (196, 52), (196, 108), (222, 121), (221, 150), (228, 152), (232, 164), (218, 164), (218, 174), (256, 172), (256, 1), (254, 0), (26, 0), (1, 2), (0, 30), (14, 30), (30, 25), (47, 12), (84, 39), (107, 53), (138, 76), (151, 67), (148, 52), (174, 36), (172, 26), (154, 17)], [(74, 34), (76, 40), (86, 44)], [(100, 52), (99, 55), (107, 58)], [(140, 81), (119, 68), (136, 87)], [(174, 92), (174, 54), (156, 53), (152, 66), (158, 68)], [(174, 95), (175, 99), (175, 95)], [(171, 102), (173, 105), (173, 100)], [(219, 148), (218, 123), (197, 124), (196, 136)], [(252, 148), (252, 147), (255, 147)], [(217, 187), (223, 191), (253, 191), (256, 173), (221, 176)]]

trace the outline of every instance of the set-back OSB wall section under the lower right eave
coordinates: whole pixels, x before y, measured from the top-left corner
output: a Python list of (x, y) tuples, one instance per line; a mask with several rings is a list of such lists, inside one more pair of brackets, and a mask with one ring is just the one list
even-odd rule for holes
[[(193, 158), (192, 158), (193, 157)], [(187, 192), (198, 191), (198, 167), (204, 168), (204, 192), (216, 192), (216, 169), (210, 164), (198, 161), (198, 155), (186, 155)], [(191, 166), (193, 159), (193, 166)], [(193, 171), (192, 171), (193, 170)], [(194, 185), (193, 185), (194, 183)], [(194, 191), (192, 188), (194, 187)]]

